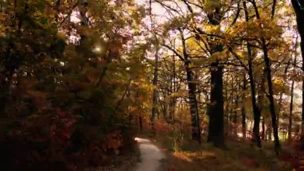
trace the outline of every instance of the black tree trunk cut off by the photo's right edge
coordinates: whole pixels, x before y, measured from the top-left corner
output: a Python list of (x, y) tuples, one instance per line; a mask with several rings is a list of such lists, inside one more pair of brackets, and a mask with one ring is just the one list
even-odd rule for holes
[[(291, 0), (295, 15), (297, 30), (301, 37), (300, 48), (302, 54), (302, 61), (304, 61), (304, 2), (301, 0)], [(302, 74), (304, 72), (304, 62), (302, 62)], [(301, 117), (301, 147), (304, 148), (304, 74), (302, 75), (302, 117)]]

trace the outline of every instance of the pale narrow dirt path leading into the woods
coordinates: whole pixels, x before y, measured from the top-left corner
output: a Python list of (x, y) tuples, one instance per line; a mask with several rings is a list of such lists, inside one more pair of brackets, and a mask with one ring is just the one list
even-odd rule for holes
[(149, 139), (138, 138), (140, 162), (138, 162), (132, 171), (159, 171), (163, 170), (162, 161), (166, 158), (165, 154)]

